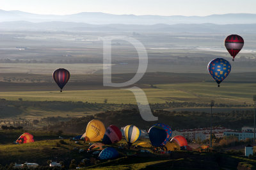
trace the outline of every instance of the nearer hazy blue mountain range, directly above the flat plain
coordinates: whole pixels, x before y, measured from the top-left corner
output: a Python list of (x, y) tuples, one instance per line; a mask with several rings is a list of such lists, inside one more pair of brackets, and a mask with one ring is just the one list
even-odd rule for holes
[[(111, 32), (170, 32), (170, 33), (255, 33), (256, 24), (86, 24), (81, 22), (0, 22), (0, 30), (23, 31), (111, 31)], [(134, 36), (140, 36), (134, 34)]]

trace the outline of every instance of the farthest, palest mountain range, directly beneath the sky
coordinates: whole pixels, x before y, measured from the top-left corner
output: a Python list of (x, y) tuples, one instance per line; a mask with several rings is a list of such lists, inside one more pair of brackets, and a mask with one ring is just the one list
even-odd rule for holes
[(256, 24), (256, 14), (230, 13), (223, 15), (159, 16), (159, 15), (114, 15), (100, 12), (83, 12), (72, 15), (38, 15), (20, 11), (0, 10), (0, 22), (81, 22), (87, 24)]

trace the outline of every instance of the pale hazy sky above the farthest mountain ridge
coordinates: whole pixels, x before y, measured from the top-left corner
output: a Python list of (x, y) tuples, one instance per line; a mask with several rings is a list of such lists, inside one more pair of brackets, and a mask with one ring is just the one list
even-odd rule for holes
[(0, 0), (1, 10), (65, 15), (104, 12), (134, 15), (256, 13), (255, 0)]

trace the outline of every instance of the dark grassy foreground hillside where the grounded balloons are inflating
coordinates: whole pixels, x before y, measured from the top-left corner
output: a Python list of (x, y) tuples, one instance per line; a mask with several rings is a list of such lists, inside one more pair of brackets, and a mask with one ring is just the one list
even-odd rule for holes
[[(30, 131), (29, 131), (30, 132)], [(86, 169), (198, 169), (209, 166), (209, 169), (227, 168), (234, 169), (238, 162), (249, 162), (254, 167), (256, 161), (252, 158), (234, 156), (227, 153), (198, 153), (195, 151), (172, 151), (172, 154), (141, 152), (140, 148), (118, 148), (120, 144), (126, 143), (123, 138), (118, 144), (108, 146), (115, 148), (119, 156), (111, 160), (97, 160), (92, 153), (86, 152), (88, 143), (76, 144), (69, 139), (58, 139), (58, 134), (47, 132), (31, 131), (34, 134), (35, 143), (12, 144), (20, 130), (1, 131), (0, 135), (0, 164), (11, 164), (12, 162), (36, 162), (42, 167), (47, 167), (49, 160), (63, 160), (63, 166), (68, 168), (72, 159), (83, 160), (85, 164), (76, 162), (77, 165), (86, 166)], [(68, 138), (71, 135), (62, 135)], [(148, 142), (148, 139), (139, 139), (134, 145), (141, 142)], [(84, 150), (79, 152), (79, 150)], [(143, 148), (150, 151), (150, 148)], [(226, 164), (230, 161), (230, 164)]]

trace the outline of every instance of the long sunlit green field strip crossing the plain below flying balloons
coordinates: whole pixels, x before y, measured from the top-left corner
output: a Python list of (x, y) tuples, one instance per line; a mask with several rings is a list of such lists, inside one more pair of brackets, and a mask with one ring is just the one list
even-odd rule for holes
[[(220, 104), (252, 104), (252, 95), (256, 93), (255, 83), (223, 82), (217, 88), (215, 82), (156, 84), (156, 88), (143, 88), (149, 103), (196, 102), (207, 103), (215, 100)], [(109, 104), (135, 104), (131, 91), (125, 89), (97, 89), (74, 91), (9, 91), (0, 92), (0, 98), (6, 100), (28, 101), (81, 101)]]

